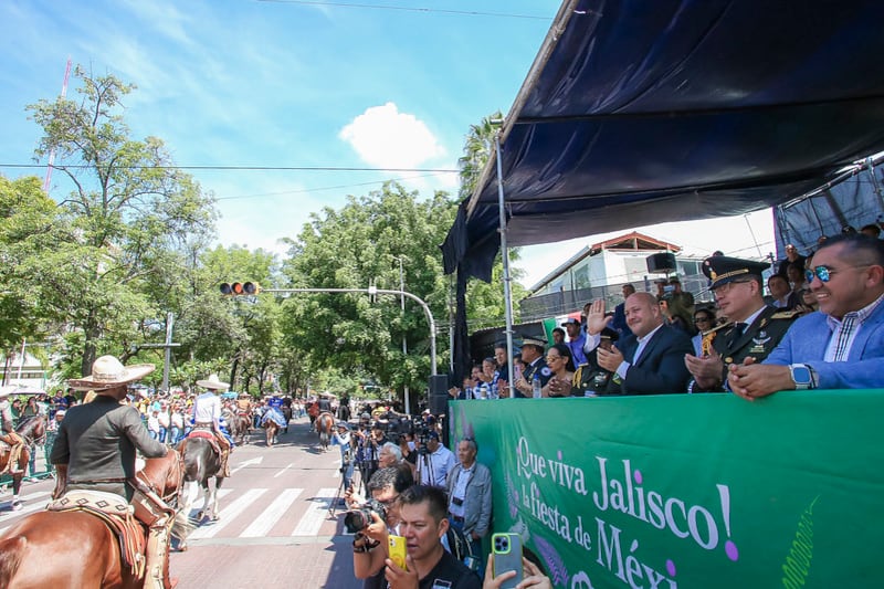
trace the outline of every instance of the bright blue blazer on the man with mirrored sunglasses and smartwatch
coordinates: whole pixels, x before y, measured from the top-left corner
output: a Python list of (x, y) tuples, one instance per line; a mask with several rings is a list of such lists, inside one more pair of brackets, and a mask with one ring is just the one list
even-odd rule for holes
[(761, 364), (807, 364), (817, 371), (820, 389), (876, 389), (884, 385), (884, 303), (857, 332), (848, 361), (824, 360), (831, 337), (828, 315), (819, 311), (804, 315)]

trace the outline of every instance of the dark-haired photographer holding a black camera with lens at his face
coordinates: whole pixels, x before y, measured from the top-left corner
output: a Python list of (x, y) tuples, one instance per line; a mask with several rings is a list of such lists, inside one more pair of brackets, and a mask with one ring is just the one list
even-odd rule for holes
[[(357, 579), (365, 579), (365, 589), (387, 586), (383, 566), (387, 559), (387, 537), (398, 533), (399, 494), (414, 481), (409, 469), (381, 469), (368, 482), (372, 502), (366, 503), (350, 488), (346, 493), (350, 512), (344, 518), (348, 532), (356, 532), (352, 540), (352, 570)], [(369, 520), (369, 517), (371, 518)]]

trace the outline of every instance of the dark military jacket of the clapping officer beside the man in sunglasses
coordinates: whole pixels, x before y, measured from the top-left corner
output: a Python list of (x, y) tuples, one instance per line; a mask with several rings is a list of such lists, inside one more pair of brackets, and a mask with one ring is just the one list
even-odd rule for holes
[(759, 364), (767, 358), (768, 354), (779, 345), (796, 317), (798, 313), (768, 306), (736, 339), (733, 325), (718, 329), (712, 346), (724, 362), (722, 382), (727, 382), (727, 367), (732, 364), (743, 364), (749, 356)]

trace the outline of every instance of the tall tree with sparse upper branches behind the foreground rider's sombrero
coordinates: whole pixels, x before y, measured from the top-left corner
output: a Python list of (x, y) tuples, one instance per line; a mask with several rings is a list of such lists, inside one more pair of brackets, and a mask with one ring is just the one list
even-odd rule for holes
[[(135, 86), (80, 66), (80, 102), (40, 101), (28, 109), (43, 128), (36, 158), (55, 150), (72, 186), (60, 203), (71, 240), (36, 266), (41, 301), (83, 334), (82, 374), (99, 350), (148, 337), (166, 311), (152, 285), (175, 283), (190, 240), (213, 231), (211, 196), (176, 169), (162, 141), (134, 140), (120, 115)], [(151, 319), (151, 317), (154, 319)]]

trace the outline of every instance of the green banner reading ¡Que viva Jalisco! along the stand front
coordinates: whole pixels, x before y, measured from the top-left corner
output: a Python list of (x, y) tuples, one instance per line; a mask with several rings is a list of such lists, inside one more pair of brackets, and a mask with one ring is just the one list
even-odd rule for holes
[(884, 587), (884, 391), (450, 409), (557, 588)]

